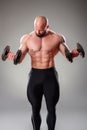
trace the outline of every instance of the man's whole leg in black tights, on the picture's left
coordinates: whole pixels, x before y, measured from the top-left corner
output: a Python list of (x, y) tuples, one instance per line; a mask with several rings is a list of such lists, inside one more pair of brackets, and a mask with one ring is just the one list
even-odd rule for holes
[(41, 109), (41, 101), (42, 101), (42, 86), (37, 84), (38, 80), (34, 80), (34, 76), (30, 77), (28, 88), (27, 88), (27, 97), (29, 102), (32, 105), (32, 125), (33, 130), (40, 130), (41, 125), (41, 117), (40, 117), (40, 109)]

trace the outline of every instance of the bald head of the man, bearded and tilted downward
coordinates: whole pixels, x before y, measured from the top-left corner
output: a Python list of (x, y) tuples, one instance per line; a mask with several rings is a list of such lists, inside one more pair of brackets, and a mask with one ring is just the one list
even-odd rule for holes
[(48, 29), (48, 19), (45, 16), (37, 16), (34, 20), (34, 30), (38, 37), (43, 37)]

